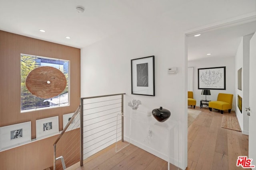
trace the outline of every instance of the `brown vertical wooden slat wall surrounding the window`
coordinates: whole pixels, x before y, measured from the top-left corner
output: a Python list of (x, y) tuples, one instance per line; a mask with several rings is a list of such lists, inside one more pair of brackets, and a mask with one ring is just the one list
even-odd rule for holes
[[(20, 113), (21, 53), (70, 61), (70, 106)], [(35, 139), (37, 119), (59, 116), (59, 130), (61, 131), (63, 129), (62, 115), (74, 112), (79, 104), (80, 49), (0, 31), (1, 127), (31, 121), (31, 135), (32, 139)], [(0, 170), (40, 170), (52, 167), (53, 143), (56, 138), (57, 135), (0, 152)]]

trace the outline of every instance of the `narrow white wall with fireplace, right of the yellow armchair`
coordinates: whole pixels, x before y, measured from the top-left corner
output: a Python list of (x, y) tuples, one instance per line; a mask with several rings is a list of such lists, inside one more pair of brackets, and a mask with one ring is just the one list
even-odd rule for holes
[[(244, 110), (245, 107), (249, 106), (249, 67), (250, 67), (250, 39), (252, 34), (245, 35), (242, 37), (238, 50), (236, 52), (236, 117), (240, 124), (242, 133), (245, 135), (249, 134), (249, 117)], [(237, 71), (242, 68), (242, 90), (237, 88)], [(242, 97), (242, 113), (237, 106), (237, 95)]]

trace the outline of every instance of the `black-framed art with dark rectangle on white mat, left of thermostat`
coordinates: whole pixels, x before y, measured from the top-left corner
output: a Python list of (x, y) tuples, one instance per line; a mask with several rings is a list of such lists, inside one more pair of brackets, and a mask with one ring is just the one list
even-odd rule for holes
[(132, 94), (155, 96), (155, 56), (131, 60)]

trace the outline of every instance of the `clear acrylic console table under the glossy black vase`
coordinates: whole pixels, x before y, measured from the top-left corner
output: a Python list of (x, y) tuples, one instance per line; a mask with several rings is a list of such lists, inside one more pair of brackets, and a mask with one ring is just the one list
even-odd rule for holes
[[(152, 115), (147, 116), (146, 113), (132, 110), (127, 115), (118, 113), (116, 125), (120, 123), (121, 117), (124, 118), (124, 124), (126, 125), (126, 128), (124, 128), (124, 139), (127, 145), (124, 147), (131, 143), (166, 160), (168, 162), (168, 170), (170, 170), (170, 163), (178, 167), (180, 161), (177, 121), (171, 120), (172, 117), (170, 117), (170, 120), (158, 122)], [(124, 149), (124, 147), (117, 149), (116, 135), (116, 152)], [(172, 161), (170, 162), (170, 160)]]

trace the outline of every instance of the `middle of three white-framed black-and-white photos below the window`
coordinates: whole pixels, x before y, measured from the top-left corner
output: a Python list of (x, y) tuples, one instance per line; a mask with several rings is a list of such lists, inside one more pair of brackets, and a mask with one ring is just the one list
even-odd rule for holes
[(42, 139), (59, 133), (59, 117), (36, 120), (36, 139)]

